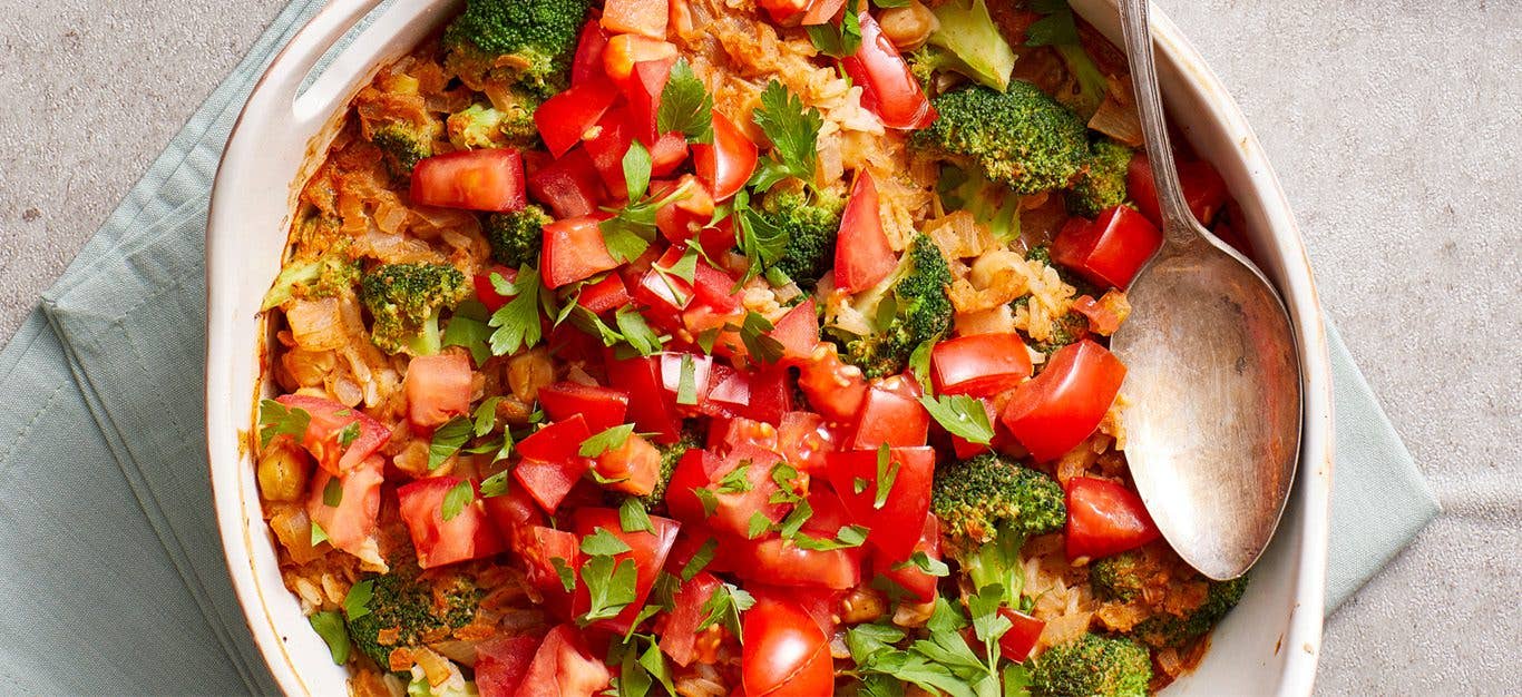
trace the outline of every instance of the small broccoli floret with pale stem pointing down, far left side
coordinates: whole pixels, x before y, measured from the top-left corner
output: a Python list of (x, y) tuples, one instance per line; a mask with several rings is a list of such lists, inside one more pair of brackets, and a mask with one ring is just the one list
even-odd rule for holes
[(374, 324), (370, 339), (387, 353), (438, 352), (438, 315), (470, 295), (466, 274), (447, 263), (387, 263), (359, 280)]

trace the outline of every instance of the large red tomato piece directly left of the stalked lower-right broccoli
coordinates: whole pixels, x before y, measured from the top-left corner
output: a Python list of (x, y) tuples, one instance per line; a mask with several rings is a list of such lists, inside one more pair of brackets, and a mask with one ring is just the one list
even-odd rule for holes
[[(825, 460), (829, 484), (846, 510), (872, 530), (868, 543), (889, 559), (907, 559), (930, 513), (935, 449), (893, 447), (883, 469), (878, 467), (878, 454), (874, 450), (833, 452)], [(881, 490), (884, 478), (878, 472), (892, 479), (886, 495)]]

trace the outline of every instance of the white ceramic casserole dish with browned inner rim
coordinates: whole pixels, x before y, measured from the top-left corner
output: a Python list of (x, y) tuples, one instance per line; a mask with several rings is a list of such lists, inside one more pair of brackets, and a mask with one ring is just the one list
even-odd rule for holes
[[(370, 17), (303, 91), (324, 53), (379, 0), (332, 0), (275, 56), (254, 87), (222, 157), (207, 227), (205, 411), (212, 485), (228, 571), (254, 642), (288, 694), (344, 694), (347, 673), (280, 580), (260, 516), (248, 431), (265, 394), (266, 327), (259, 304), (279, 272), (297, 193), (321, 161), (349, 99), (406, 53), (458, 0), (396, 0)], [(1076, 9), (1119, 46), (1113, 0)], [(1154, 9), (1158, 73), (1173, 122), (1225, 178), (1263, 271), (1301, 339), (1304, 438), (1283, 527), (1253, 572), (1242, 604), (1216, 629), (1196, 671), (1167, 694), (1309, 694), (1321, 645), (1332, 482), (1330, 368), (1304, 245), (1257, 138), (1227, 90)]]

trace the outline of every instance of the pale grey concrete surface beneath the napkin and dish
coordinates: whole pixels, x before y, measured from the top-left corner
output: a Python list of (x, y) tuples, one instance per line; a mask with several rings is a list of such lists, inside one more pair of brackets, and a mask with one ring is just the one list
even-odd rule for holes
[[(0, 336), (280, 0), (0, 0)], [(1242, 103), (1444, 516), (1327, 624), (1324, 694), (1519, 694), (1522, 14), (1161, 2)]]

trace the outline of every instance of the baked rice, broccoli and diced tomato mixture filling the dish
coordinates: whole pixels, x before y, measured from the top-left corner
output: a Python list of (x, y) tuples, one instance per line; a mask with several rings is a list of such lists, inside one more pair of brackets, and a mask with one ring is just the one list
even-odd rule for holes
[(1126, 470), (1140, 145), (1061, 2), (470, 0), (265, 297), (286, 586), (358, 694), (1166, 686), (1245, 580)]

